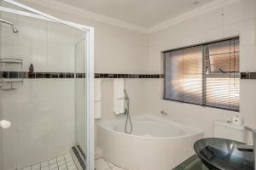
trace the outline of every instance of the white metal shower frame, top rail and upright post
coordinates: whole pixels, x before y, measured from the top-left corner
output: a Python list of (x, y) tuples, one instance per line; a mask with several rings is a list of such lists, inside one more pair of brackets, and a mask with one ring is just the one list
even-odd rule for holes
[[(93, 107), (94, 107), (94, 27), (84, 26), (77, 23), (69, 22), (67, 20), (61, 20), (51, 16), (49, 14), (45, 14), (37, 9), (30, 8), (22, 3), (17, 3), (14, 0), (1, 0), (5, 3), (13, 4), (17, 7), (24, 8), (27, 11), (31, 11), (31, 13), (27, 13), (24, 11), (19, 11), (12, 8), (0, 8), (0, 11), (15, 13), (20, 15), (26, 15), (32, 18), (38, 18), (41, 20), (50, 20), (53, 22), (58, 22), (66, 26), (71, 26), (73, 28), (79, 29), (80, 31), (84, 31), (84, 39), (85, 39), (85, 84), (86, 84), (86, 105), (85, 111), (86, 113), (86, 170), (94, 170), (95, 169), (95, 146), (94, 146), (94, 115), (93, 115)], [(87, 107), (86, 107), (87, 106)]]

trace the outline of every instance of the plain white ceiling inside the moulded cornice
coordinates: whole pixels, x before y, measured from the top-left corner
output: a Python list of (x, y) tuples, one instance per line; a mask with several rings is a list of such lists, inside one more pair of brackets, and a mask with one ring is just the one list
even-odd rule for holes
[(55, 0), (148, 28), (214, 0)]

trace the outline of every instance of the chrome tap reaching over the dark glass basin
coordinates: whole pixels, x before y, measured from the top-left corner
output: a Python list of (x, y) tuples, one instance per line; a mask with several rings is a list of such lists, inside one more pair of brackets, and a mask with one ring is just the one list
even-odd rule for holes
[(256, 169), (256, 129), (245, 127), (248, 131), (253, 133), (253, 144), (241, 144), (237, 146), (238, 150), (253, 151), (253, 166)]

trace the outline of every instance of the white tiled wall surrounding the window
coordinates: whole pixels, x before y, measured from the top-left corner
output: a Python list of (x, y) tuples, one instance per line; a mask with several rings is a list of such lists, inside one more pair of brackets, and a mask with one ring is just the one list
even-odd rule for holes
[[(234, 2), (150, 34), (148, 72), (163, 72), (161, 51), (234, 36), (240, 36), (240, 70), (256, 71), (255, 2)], [(227, 120), (236, 114), (244, 117), (247, 126), (256, 127), (256, 82), (253, 80), (241, 80), (240, 113), (163, 100), (163, 87), (163, 80), (148, 80), (145, 97), (148, 113), (159, 114), (164, 110), (169, 113), (166, 118), (201, 127), (207, 137), (213, 135), (215, 120)]]

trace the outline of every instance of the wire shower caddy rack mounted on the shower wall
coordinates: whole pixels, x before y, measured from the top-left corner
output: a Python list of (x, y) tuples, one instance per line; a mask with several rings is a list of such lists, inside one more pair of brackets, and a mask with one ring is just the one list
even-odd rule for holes
[(15, 90), (14, 83), (23, 82), (22, 65), (22, 59), (0, 58), (0, 90)]

